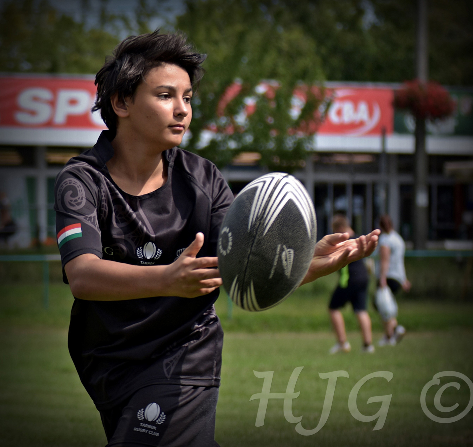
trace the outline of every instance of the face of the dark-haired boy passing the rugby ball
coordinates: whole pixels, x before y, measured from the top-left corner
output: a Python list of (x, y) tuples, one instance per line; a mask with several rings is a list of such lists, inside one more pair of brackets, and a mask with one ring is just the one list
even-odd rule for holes
[(126, 101), (127, 124), (141, 140), (170, 149), (181, 143), (189, 127), (191, 97), (191, 80), (183, 68), (174, 64), (151, 68), (133, 100)]

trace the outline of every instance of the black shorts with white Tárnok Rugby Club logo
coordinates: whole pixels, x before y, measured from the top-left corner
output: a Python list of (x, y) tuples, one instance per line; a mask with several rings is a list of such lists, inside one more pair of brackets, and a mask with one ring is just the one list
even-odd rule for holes
[(218, 387), (150, 385), (100, 412), (107, 447), (218, 447)]

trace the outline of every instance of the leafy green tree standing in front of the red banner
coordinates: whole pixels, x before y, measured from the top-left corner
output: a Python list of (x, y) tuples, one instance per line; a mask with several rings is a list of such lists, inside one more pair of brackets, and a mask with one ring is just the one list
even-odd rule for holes
[[(186, 5), (176, 27), (208, 54), (207, 73), (193, 104), (188, 148), (220, 166), (237, 152), (250, 150), (260, 152), (264, 165), (295, 169), (310, 143), (301, 129), (324, 104), (323, 88), (306, 89), (300, 114), (289, 114), (294, 88), (323, 80), (314, 39), (297, 23), (280, 25), (282, 7), (270, 13), (257, 1), (189, 0)], [(266, 88), (263, 80), (276, 83)], [(239, 93), (224, 101), (232, 84)], [(245, 116), (248, 105), (256, 109)], [(209, 133), (201, 131), (206, 127), (218, 132), (204, 142), (202, 137)]]

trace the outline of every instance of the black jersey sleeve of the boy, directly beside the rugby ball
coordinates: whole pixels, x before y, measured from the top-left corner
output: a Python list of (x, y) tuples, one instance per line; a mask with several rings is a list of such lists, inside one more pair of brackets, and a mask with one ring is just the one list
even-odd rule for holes
[(234, 199), (233, 193), (220, 171), (216, 167), (214, 167), (214, 171), (210, 216), (210, 251), (212, 256), (217, 255), (217, 240), (220, 227)]

